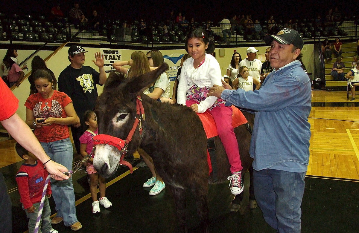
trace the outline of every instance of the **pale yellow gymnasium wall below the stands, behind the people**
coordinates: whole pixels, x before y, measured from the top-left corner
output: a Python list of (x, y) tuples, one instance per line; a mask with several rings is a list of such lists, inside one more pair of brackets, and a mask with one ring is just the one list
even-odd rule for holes
[[(91, 66), (93, 67), (96, 71), (98, 71), (98, 67), (94, 65), (94, 63), (91, 60), (94, 60), (94, 53), (100, 51), (101, 48), (90, 48), (90, 47), (86, 47), (84, 44), (82, 45), (86, 50), (88, 50), (89, 52), (85, 53), (86, 56), (86, 60), (85, 60), (85, 66)], [(261, 46), (258, 47), (256, 46), (256, 48), (259, 50), (258, 54), (258, 58), (263, 57), (265, 53), (265, 50), (268, 46)], [(67, 59), (68, 56), (68, 51), (69, 47), (65, 46), (62, 49), (60, 49), (59, 51), (57, 51), (55, 54), (52, 55), (52, 57), (46, 62), (46, 65), (48, 68), (50, 68), (50, 70), (53, 71), (53, 73), (55, 74), (55, 77), (59, 77), (60, 73), (62, 70), (64, 70), (68, 65), (70, 65), (69, 60)], [(222, 71), (222, 76), (226, 74), (227, 72), (227, 67), (230, 63), (230, 60), (232, 58), (233, 52), (236, 49), (237, 52), (239, 52), (242, 56), (242, 59), (245, 58), (246, 56), (246, 50), (247, 47), (242, 47), (242, 48), (222, 48), (224, 50), (224, 56), (219, 56), (219, 49), (216, 48), (215, 49), (215, 56), (217, 61), (219, 62), (221, 71)], [(103, 50), (107, 50), (107, 49), (103, 49)], [(102, 50), (102, 51), (103, 51)], [(131, 57), (131, 53), (136, 51), (134, 49), (116, 49), (119, 54), (121, 54), (120, 60), (121, 61), (127, 61), (130, 59)], [(148, 52), (148, 50), (141, 50), (144, 53)], [(184, 54), (186, 53), (185, 49), (161, 49), (160, 50), (162, 52), (163, 55), (167, 55), (167, 56), (171, 56), (173, 54)], [(0, 50), (0, 56), (2, 56), (2, 53), (5, 55), (5, 52), (3, 49)], [(26, 58), (28, 55), (30, 55), (32, 52), (34, 51), (24, 51), (24, 50), (18, 50), (19, 53), (19, 61), (21, 62), (22, 59)], [(40, 51), (38, 53), (38, 55), (40, 57), (42, 57), (43, 59), (45, 59), (48, 55), (51, 54), (52, 51)], [(222, 54), (223, 51), (221, 51)], [(306, 66), (308, 72), (313, 72), (313, 44), (306, 44), (304, 45), (303, 49), (303, 63)], [(28, 54), (28, 55), (27, 55)], [(21, 57), (20, 57), (21, 56)], [(166, 60), (168, 63), (171, 63), (170, 61)], [(264, 60), (262, 60), (264, 61)], [(108, 61), (107, 61), (108, 62)], [(105, 61), (106, 63), (106, 61)], [(176, 63), (175, 64), (169, 64), (169, 66), (175, 66), (175, 68), (177, 67), (177, 65), (179, 64)], [(28, 62), (28, 66), (29, 66), (29, 71), (31, 70), (31, 61)], [(179, 66), (179, 65), (178, 65)], [(109, 67), (108, 67), (109, 68)], [(173, 73), (177, 72), (177, 71), (172, 71)], [(173, 87), (173, 81), (171, 81), (171, 94), (170, 96), (172, 96), (172, 87)], [(97, 85), (98, 88), (98, 94), (101, 94), (103, 87)], [(30, 90), (30, 84), (27, 80), (24, 80), (21, 85), (18, 88), (15, 88), (13, 90), (14, 95), (19, 99), (19, 109), (17, 111), (17, 113), (19, 114), (19, 116), (25, 120), (25, 107), (24, 107), (24, 103), (26, 101), (26, 99), (29, 96), (29, 90)]]

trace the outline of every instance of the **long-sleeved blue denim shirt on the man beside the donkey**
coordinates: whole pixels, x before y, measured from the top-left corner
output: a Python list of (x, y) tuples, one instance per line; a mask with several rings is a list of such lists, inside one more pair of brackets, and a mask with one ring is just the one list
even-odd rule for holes
[(257, 171), (307, 171), (311, 82), (299, 61), (272, 71), (260, 90), (224, 90), (226, 105), (255, 112), (250, 154)]

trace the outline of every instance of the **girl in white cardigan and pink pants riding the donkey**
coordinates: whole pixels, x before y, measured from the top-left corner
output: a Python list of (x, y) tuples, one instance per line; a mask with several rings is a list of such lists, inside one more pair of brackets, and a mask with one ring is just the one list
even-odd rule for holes
[(185, 49), (190, 54), (183, 62), (181, 79), (178, 84), (177, 103), (190, 107), (196, 113), (208, 111), (217, 125), (217, 132), (227, 153), (232, 176), (230, 190), (237, 195), (243, 191), (242, 164), (238, 142), (233, 132), (232, 108), (215, 96), (208, 96), (214, 85), (222, 86), (221, 69), (213, 53), (214, 42), (208, 39), (203, 29), (194, 29), (187, 34)]

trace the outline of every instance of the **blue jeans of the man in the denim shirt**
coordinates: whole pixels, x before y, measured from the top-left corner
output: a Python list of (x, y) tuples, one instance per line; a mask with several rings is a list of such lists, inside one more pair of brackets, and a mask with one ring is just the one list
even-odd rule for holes
[(253, 171), (254, 194), (265, 221), (278, 232), (300, 233), (306, 172)]

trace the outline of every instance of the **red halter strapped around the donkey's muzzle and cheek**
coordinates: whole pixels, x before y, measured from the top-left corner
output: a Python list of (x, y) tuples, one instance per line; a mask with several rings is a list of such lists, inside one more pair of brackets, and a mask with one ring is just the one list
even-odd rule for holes
[(113, 136), (107, 135), (107, 134), (98, 134), (98, 135), (95, 135), (92, 138), (94, 145), (97, 145), (97, 144), (109, 144), (111, 146), (117, 147), (117, 149), (119, 149), (121, 151), (121, 153), (122, 153), (119, 163), (129, 167), (131, 173), (132, 173), (132, 165), (131, 165), (131, 163), (129, 163), (127, 161), (124, 161), (123, 157), (125, 157), (125, 155), (126, 155), (126, 153), (128, 151), (127, 146), (131, 142), (132, 136), (134, 135), (137, 126), (139, 128), (140, 134), (142, 134), (141, 117), (142, 117), (143, 120), (145, 120), (145, 110), (144, 110), (143, 105), (142, 105), (141, 96), (137, 95), (135, 122), (134, 122), (134, 125), (132, 126), (132, 129), (131, 129), (131, 131), (130, 131), (130, 133), (127, 136), (125, 141), (123, 141), (121, 138), (116, 138), (116, 137), (113, 137)]

